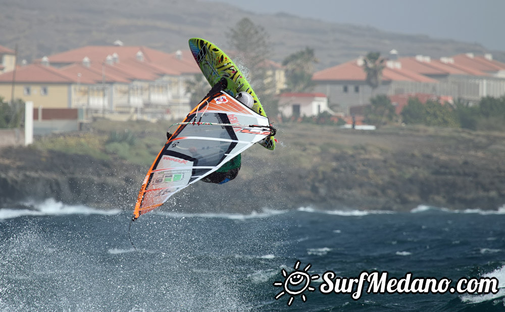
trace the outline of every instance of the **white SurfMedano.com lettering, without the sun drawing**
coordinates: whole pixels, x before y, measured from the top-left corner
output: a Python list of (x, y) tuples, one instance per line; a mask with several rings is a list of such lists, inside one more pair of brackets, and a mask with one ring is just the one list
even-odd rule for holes
[(497, 278), (460, 278), (455, 286), (451, 286), (452, 280), (443, 277), (436, 278), (413, 278), (409, 272), (401, 278), (389, 277), (386, 271), (366, 272), (363, 271), (358, 277), (337, 277), (333, 271), (326, 271), (323, 283), (319, 291), (323, 294), (341, 293), (350, 294), (352, 299), (358, 300), (363, 294), (365, 284), (368, 284), (367, 293), (420, 293), (420, 294), (443, 294), (446, 292), (459, 294), (488, 294), (498, 292)]

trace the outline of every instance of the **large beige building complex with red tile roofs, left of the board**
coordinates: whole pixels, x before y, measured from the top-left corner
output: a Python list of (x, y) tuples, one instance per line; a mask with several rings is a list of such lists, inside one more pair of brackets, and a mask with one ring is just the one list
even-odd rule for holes
[[(20, 67), (15, 97), (43, 107), (143, 108), (164, 114), (174, 105), (189, 106), (185, 80), (195, 74), (201, 72), (191, 54), (147, 47), (87, 46)], [(0, 95), (10, 97), (12, 76), (0, 75)]]

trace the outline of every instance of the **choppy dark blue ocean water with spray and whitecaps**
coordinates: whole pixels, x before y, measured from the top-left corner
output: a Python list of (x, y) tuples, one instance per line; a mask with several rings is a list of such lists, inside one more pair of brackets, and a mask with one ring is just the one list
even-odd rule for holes
[[(503, 311), (505, 208), (411, 212), (265, 210), (184, 214), (168, 207), (135, 221), (47, 200), (0, 209), (0, 311)], [(357, 277), (494, 277), (496, 294), (275, 296), (283, 272)], [(307, 268), (308, 264), (310, 268)], [(292, 302), (288, 301), (292, 297)]]

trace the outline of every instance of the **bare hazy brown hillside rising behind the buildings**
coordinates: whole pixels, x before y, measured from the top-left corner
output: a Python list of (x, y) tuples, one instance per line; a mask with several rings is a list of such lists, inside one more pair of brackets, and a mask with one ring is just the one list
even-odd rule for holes
[[(274, 60), (281, 61), (293, 51), (308, 46), (315, 49), (320, 60), (318, 69), (369, 51), (387, 54), (393, 48), (400, 56), (441, 57), (485, 52), (477, 43), (390, 33), (286, 14), (259, 15), (223, 6), (197, 0), (5, 2), (0, 10), (0, 44), (11, 49), (18, 44), (20, 59), (28, 61), (90, 44), (111, 44), (116, 39), (126, 45), (149, 46), (171, 53), (187, 49), (187, 39), (198, 36), (226, 48), (230, 27), (241, 18), (249, 17), (270, 34)], [(505, 61), (503, 52), (493, 52), (493, 55)]]

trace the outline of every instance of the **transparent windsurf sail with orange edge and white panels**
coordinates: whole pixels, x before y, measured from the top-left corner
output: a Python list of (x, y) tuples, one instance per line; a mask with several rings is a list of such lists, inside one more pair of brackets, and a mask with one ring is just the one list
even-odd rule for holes
[(225, 92), (204, 99), (176, 125), (145, 175), (132, 220), (275, 134), (267, 117)]

